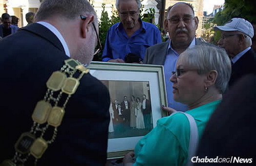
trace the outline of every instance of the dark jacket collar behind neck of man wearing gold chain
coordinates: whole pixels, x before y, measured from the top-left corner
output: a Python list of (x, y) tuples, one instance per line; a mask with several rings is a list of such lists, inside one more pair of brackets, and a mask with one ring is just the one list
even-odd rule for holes
[(64, 50), (61, 42), (59, 41), (59, 38), (56, 35), (54, 35), (54, 33), (52, 33), (48, 28), (44, 27), (43, 25), (38, 24), (38, 23), (32, 23), (32, 24), (20, 29), (20, 31), (22, 31), (22, 30), (34, 33), (34, 34), (44, 38), (45, 40), (48, 40), (56, 48), (58, 48), (60, 51), (65, 53), (65, 50)]

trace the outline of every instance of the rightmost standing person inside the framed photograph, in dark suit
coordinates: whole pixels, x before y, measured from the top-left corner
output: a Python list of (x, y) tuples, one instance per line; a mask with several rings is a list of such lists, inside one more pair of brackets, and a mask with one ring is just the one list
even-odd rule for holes
[(143, 94), (143, 100), (142, 100), (142, 113), (143, 113), (145, 128), (152, 129), (153, 126), (152, 126), (151, 104), (145, 94)]

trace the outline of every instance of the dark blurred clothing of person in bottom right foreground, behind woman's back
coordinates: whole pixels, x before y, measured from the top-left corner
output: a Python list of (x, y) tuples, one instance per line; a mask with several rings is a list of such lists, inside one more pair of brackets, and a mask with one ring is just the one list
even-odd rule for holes
[[(217, 156), (219, 158), (253, 158), (256, 159), (256, 75), (248, 74), (239, 79), (225, 94), (217, 110), (212, 114), (199, 142), (199, 158)], [(221, 166), (216, 164), (196, 164), (196, 166)], [(227, 164), (222, 165), (246, 165)]]

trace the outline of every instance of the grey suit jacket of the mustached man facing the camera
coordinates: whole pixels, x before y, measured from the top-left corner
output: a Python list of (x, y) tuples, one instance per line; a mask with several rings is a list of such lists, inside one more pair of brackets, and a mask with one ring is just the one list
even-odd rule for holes
[[(143, 63), (154, 64), (154, 65), (164, 65), (169, 43), (170, 43), (170, 40), (167, 40), (165, 42), (158, 43), (147, 48)], [(200, 44), (206, 44), (206, 45), (216, 47), (213, 44), (205, 43), (200, 41), (199, 39), (196, 39), (196, 45), (200, 45)]]

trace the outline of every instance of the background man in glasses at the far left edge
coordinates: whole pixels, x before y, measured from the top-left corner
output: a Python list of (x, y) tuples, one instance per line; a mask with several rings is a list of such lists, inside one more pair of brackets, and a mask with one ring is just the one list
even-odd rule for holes
[(7, 37), (18, 31), (18, 26), (12, 25), (12, 17), (8, 13), (3, 13), (1, 18), (0, 37)]

